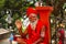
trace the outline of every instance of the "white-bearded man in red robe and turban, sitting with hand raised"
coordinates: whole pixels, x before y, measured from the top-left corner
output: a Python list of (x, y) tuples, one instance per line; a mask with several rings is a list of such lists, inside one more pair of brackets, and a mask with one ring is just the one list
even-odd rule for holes
[[(44, 42), (45, 26), (37, 18), (37, 11), (33, 8), (26, 10), (26, 15), (29, 16), (30, 24), (26, 28), (25, 32), (22, 33), (22, 23), (21, 21), (15, 21), (15, 25), (22, 36), (18, 38), (18, 42), (21, 44), (46, 44)], [(28, 37), (25, 37), (28, 35)]]

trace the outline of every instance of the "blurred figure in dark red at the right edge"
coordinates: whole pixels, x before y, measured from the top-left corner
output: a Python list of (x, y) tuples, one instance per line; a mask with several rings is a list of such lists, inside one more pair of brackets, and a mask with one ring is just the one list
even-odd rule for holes
[(59, 25), (61, 28), (58, 29), (58, 38), (59, 38), (59, 41), (58, 41), (58, 44), (64, 44), (64, 28), (65, 28), (65, 25), (63, 24), (63, 23), (61, 23), (61, 25)]

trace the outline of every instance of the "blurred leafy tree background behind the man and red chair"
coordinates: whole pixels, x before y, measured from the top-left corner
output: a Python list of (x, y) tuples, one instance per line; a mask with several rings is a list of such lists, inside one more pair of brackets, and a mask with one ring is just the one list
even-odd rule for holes
[[(26, 20), (28, 7), (35, 8), (35, 2), (42, 3), (42, 6), (51, 6), (54, 11), (51, 13), (51, 42), (56, 44), (57, 29), (62, 28), (66, 31), (66, 0), (0, 0), (0, 29), (12, 31), (14, 34), (19, 34), (15, 28), (15, 20)], [(25, 26), (25, 25), (24, 25)]]

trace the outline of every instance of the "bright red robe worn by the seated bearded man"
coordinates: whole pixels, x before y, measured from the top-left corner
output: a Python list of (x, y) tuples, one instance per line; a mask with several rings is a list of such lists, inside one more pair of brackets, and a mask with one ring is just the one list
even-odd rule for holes
[[(31, 29), (31, 25), (28, 26), (29, 40), (25, 40), (28, 44), (32, 44), (40, 38), (41, 29), (44, 24), (38, 21), (35, 28), (35, 31)], [(44, 42), (45, 43), (45, 42)], [(46, 43), (45, 43), (46, 44)]]

